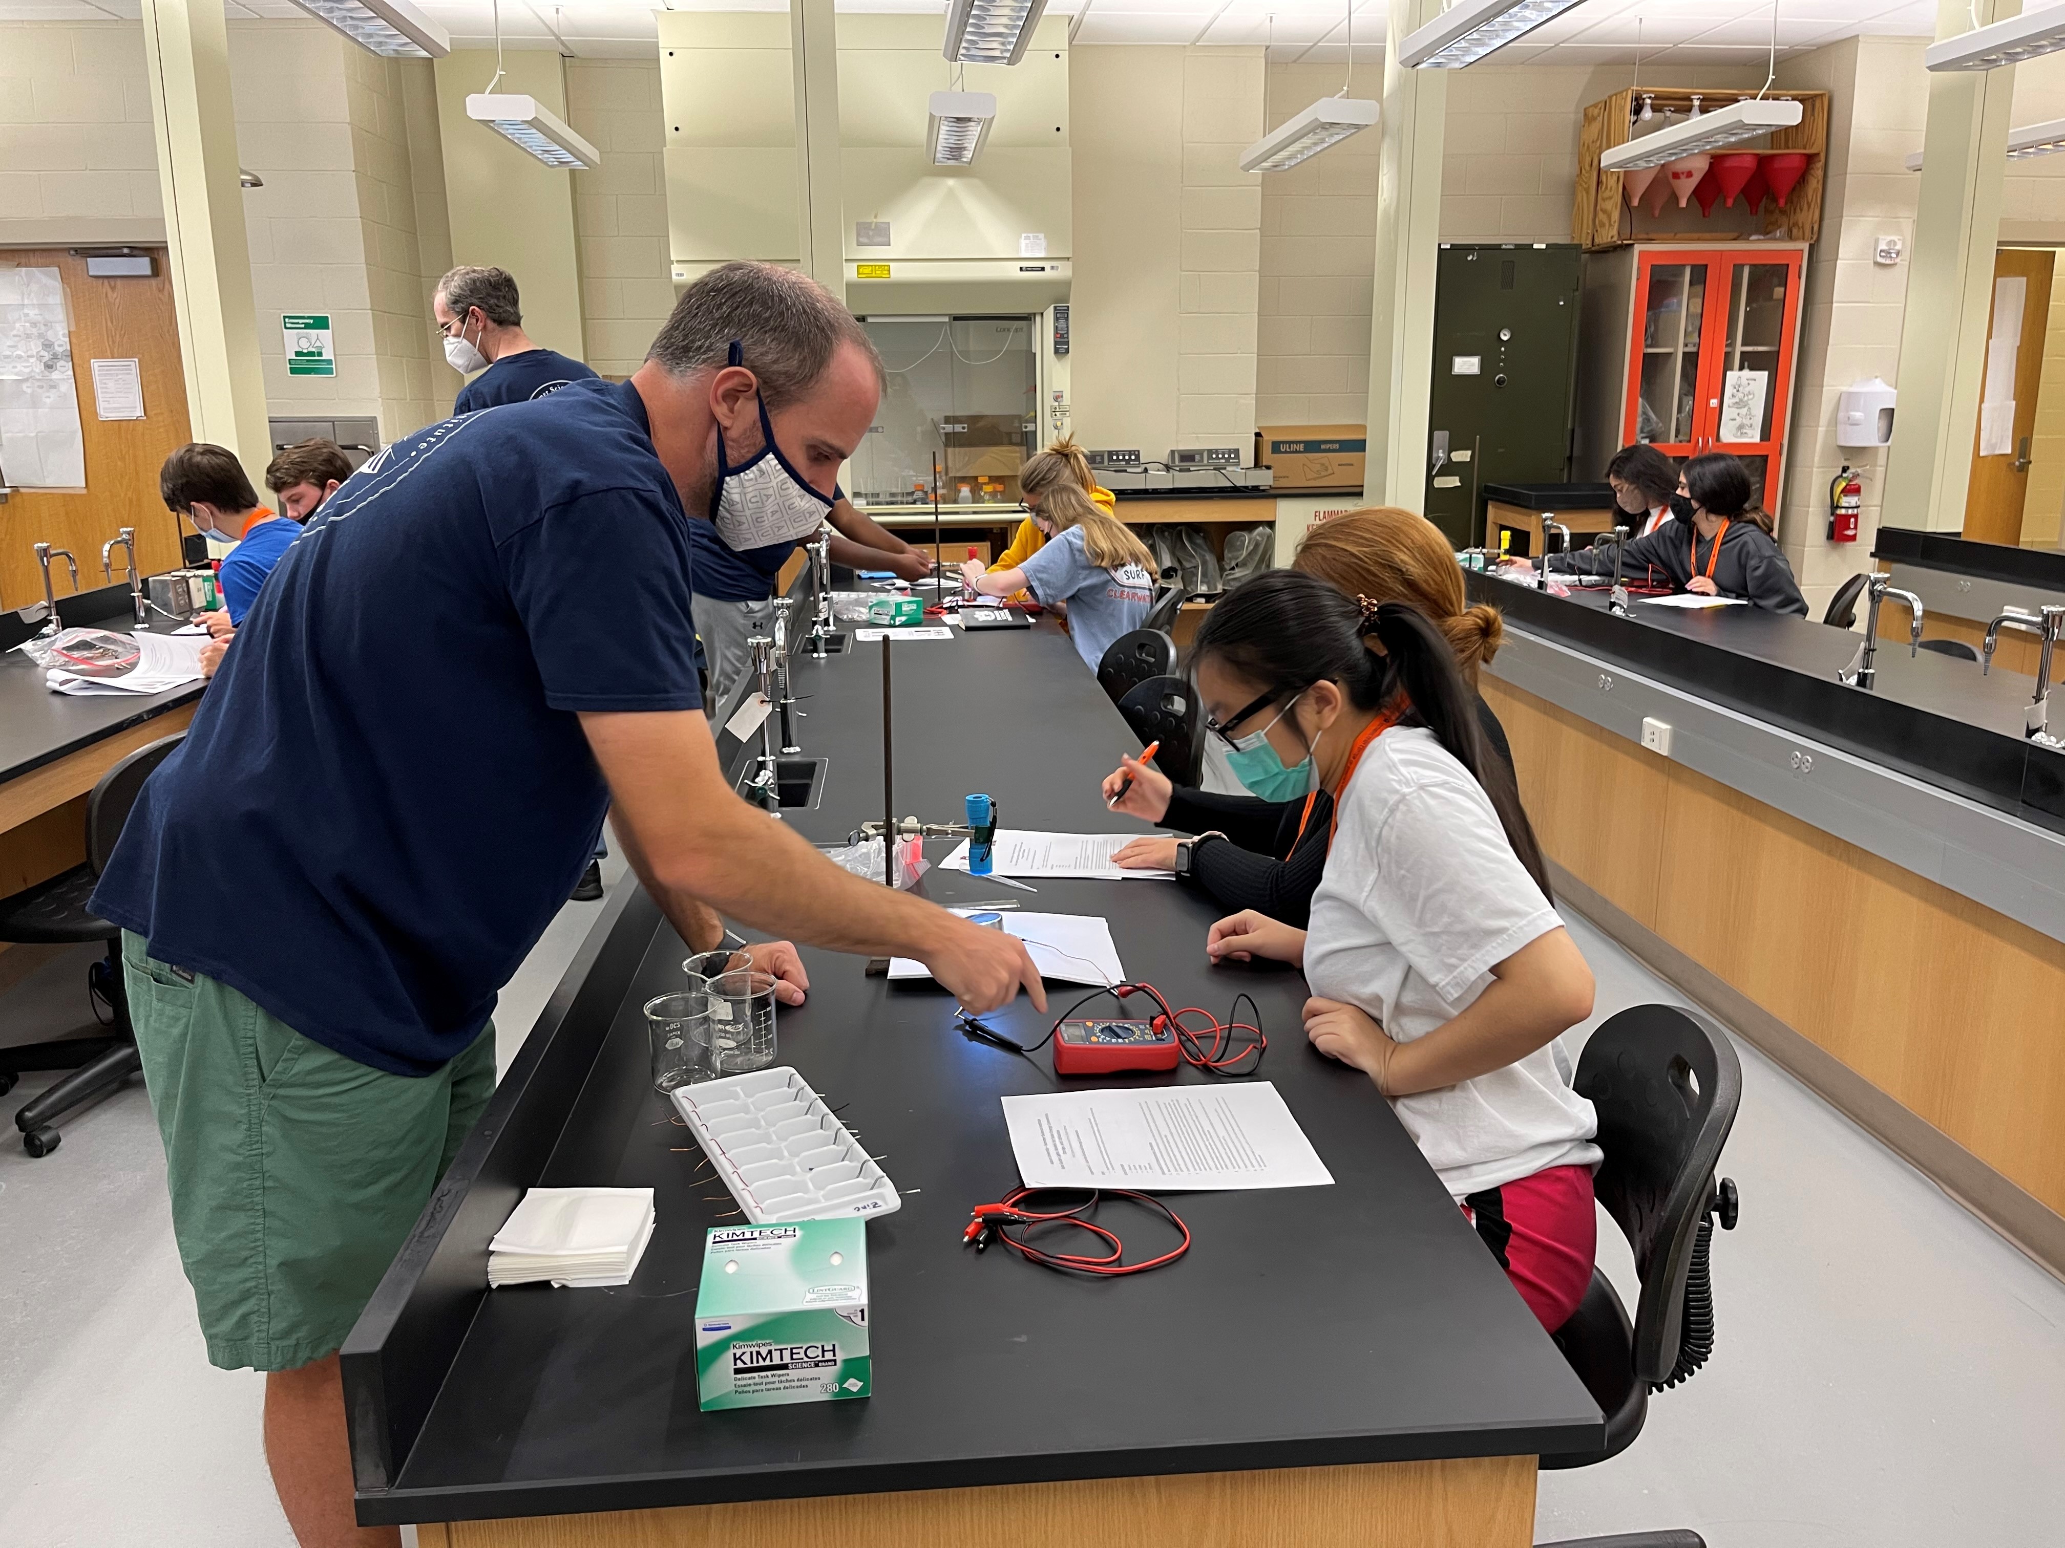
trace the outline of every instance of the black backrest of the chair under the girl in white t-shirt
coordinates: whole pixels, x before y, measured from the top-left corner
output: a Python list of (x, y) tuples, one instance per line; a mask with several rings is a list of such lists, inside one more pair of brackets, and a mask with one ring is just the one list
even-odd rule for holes
[(1607, 1152), (1592, 1191), (1627, 1234), (1642, 1278), (1635, 1377), (1666, 1383), (1679, 1364), (1685, 1280), (1714, 1203), (1714, 1168), (1743, 1104), (1743, 1065), (1704, 1015), (1633, 1005), (1584, 1044), (1576, 1088), (1598, 1110)]

